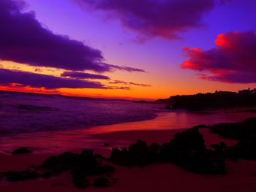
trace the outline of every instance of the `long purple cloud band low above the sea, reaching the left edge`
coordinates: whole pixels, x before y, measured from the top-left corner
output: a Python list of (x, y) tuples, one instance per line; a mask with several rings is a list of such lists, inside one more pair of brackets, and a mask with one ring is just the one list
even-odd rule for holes
[(54, 77), (46, 74), (35, 74), (31, 72), (12, 71), (0, 69), (1, 85), (11, 85), (12, 83), (30, 86), (32, 88), (105, 88), (99, 82), (89, 82), (85, 80), (74, 80), (64, 77)]

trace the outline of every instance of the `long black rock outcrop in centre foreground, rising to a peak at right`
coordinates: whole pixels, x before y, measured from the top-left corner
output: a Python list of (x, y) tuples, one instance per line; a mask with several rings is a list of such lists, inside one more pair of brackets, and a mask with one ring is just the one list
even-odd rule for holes
[(222, 151), (208, 150), (198, 128), (190, 128), (174, 135), (162, 146), (138, 140), (129, 148), (113, 148), (110, 161), (124, 166), (144, 166), (156, 162), (169, 162), (192, 172), (224, 174), (225, 158)]

